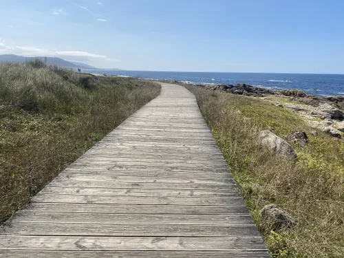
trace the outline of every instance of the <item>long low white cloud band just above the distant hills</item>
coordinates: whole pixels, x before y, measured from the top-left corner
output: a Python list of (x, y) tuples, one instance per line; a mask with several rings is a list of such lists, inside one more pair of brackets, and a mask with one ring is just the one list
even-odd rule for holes
[(18, 54), (23, 56), (58, 56), (71, 61), (118, 61), (101, 54), (94, 54), (84, 51), (61, 51), (47, 50), (37, 47), (27, 47), (19, 45), (8, 45), (0, 41), (0, 54)]

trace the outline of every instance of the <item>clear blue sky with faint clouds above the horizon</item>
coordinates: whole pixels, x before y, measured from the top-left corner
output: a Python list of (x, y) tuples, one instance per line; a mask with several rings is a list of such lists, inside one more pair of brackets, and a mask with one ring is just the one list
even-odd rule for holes
[(96, 67), (344, 74), (344, 1), (0, 0), (0, 54)]

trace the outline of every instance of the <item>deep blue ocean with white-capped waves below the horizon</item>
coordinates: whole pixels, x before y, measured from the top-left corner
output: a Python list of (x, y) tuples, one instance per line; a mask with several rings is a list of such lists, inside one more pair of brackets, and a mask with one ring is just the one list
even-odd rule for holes
[(83, 72), (130, 76), (154, 80), (180, 80), (193, 84), (246, 83), (266, 89), (301, 89), (319, 96), (344, 96), (344, 74), (260, 74), (219, 72), (149, 72), (110, 69), (83, 69)]

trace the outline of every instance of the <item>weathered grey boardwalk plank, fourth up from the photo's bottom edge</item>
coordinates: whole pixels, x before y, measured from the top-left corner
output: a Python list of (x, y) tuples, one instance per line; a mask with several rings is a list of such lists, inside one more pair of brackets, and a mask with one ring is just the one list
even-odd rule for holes
[(247, 225), (253, 224), (249, 214), (198, 215), (198, 214), (131, 214), (131, 213), (35, 213), (19, 211), (14, 222), (52, 223), (97, 223), (97, 224), (204, 224), (204, 225)]

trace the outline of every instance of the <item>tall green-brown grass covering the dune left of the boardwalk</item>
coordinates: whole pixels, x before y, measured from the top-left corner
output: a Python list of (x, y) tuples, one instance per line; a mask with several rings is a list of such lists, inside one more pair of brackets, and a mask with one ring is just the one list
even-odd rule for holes
[(160, 92), (41, 61), (0, 65), (0, 75), (0, 222)]

